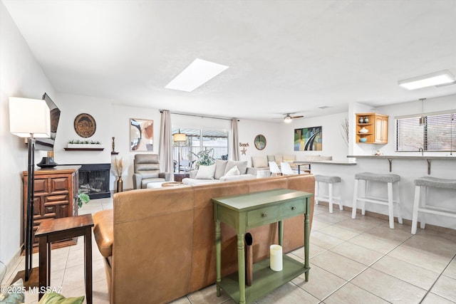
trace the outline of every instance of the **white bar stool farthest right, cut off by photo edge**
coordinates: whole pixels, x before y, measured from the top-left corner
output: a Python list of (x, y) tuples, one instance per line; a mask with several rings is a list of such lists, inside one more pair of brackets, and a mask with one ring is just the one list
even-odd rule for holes
[[(415, 179), (415, 200), (413, 201), (412, 234), (416, 234), (418, 212), (456, 217), (456, 209), (443, 208), (426, 204), (427, 187), (456, 189), (456, 179), (439, 179), (437, 177), (420, 177)], [(423, 199), (421, 190), (424, 189)], [(420, 227), (425, 229), (425, 216), (421, 216)]]

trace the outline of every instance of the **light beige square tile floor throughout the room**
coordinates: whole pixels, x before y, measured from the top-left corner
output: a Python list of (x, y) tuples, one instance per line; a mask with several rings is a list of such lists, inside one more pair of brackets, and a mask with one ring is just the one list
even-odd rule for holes
[[(111, 209), (111, 199), (93, 199), (80, 214)], [(304, 275), (281, 286), (258, 304), (266, 303), (456, 303), (456, 236), (418, 230), (370, 216), (351, 219), (348, 211), (317, 205), (311, 231), (309, 282)], [(304, 249), (289, 253), (303, 261)], [(33, 256), (37, 265), (38, 255)], [(103, 259), (93, 241), (93, 300), (109, 303)], [(24, 269), (20, 258), (4, 283)], [(83, 241), (76, 246), (52, 251), (51, 284), (61, 286), (66, 296), (84, 294)], [(26, 295), (26, 303), (37, 303), (38, 296)], [(173, 304), (234, 303), (222, 292), (217, 298), (211, 285)]]

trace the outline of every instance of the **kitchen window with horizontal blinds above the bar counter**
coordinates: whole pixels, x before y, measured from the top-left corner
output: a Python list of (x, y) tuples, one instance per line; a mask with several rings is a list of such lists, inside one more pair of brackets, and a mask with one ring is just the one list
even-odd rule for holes
[(420, 117), (405, 117), (395, 120), (396, 151), (451, 152), (456, 150), (456, 112), (427, 115), (424, 124)]

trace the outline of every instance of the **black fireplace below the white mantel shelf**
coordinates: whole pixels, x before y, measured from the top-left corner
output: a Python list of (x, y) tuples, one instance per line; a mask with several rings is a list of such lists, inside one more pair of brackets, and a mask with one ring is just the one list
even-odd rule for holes
[(79, 193), (90, 199), (110, 197), (109, 179), (111, 164), (81, 164), (79, 169)]

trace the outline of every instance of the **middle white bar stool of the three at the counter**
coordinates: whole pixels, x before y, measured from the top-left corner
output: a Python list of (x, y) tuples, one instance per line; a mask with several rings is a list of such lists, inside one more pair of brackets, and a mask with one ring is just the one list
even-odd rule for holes
[[(365, 181), (364, 196), (358, 196), (358, 182), (360, 179)], [(402, 224), (402, 215), (400, 214), (400, 197), (399, 184), (400, 176), (398, 174), (375, 174), (371, 172), (362, 172), (355, 174), (355, 189), (353, 194), (353, 210), (351, 218), (356, 219), (356, 204), (361, 201), (361, 214), (366, 214), (366, 201), (368, 203), (382, 204), (388, 206), (388, 217), (390, 219), (390, 229), (394, 229), (394, 209), (393, 204), (398, 205), (398, 221)], [(388, 199), (368, 196), (368, 182), (386, 183), (388, 187)], [(396, 200), (393, 201), (393, 184), (396, 185)]]

